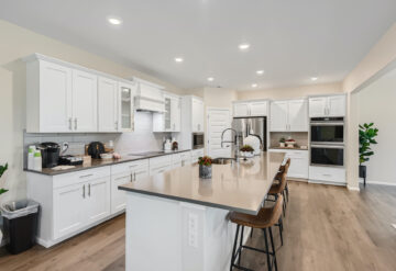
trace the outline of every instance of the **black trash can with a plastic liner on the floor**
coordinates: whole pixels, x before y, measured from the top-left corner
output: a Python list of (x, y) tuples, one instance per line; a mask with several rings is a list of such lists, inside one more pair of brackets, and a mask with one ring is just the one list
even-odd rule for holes
[(32, 200), (8, 202), (1, 205), (4, 234), (9, 238), (6, 246), (12, 255), (23, 252), (35, 244), (37, 234), (38, 203)]

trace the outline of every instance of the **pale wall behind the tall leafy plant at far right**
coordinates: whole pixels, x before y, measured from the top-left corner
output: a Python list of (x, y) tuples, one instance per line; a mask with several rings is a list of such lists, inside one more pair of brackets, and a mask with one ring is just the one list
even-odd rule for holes
[(396, 69), (359, 92), (359, 123), (371, 123), (380, 129), (377, 145), (367, 166), (367, 182), (396, 185)]

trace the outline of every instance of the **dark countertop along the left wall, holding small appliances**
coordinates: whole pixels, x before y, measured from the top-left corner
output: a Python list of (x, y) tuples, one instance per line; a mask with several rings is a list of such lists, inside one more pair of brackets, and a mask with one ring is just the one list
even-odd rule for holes
[(160, 157), (160, 156), (167, 156), (167, 155), (179, 154), (179, 153), (185, 153), (185, 151), (190, 151), (190, 149), (170, 150), (170, 151), (151, 154), (151, 155), (145, 155), (145, 156), (127, 154), (127, 155), (123, 155), (121, 157), (121, 159), (92, 159), (91, 163), (89, 163), (89, 165), (80, 165), (80, 166), (76, 166), (74, 168), (65, 169), (65, 170), (54, 170), (51, 168), (43, 168), (40, 171), (31, 170), (31, 169), (24, 169), (24, 171), (38, 173), (38, 174), (45, 174), (45, 176), (57, 176), (57, 174), (64, 174), (64, 173), (69, 173), (69, 172), (75, 172), (75, 171), (80, 171), (80, 170), (86, 170), (86, 169), (112, 166), (112, 165), (122, 163), (122, 162), (136, 161), (136, 160), (148, 159), (148, 158), (154, 158), (154, 157)]

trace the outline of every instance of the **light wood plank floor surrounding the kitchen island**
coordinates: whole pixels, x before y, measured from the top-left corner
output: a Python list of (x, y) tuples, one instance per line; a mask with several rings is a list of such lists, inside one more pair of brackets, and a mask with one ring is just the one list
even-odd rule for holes
[[(396, 229), (391, 226), (396, 188), (369, 185), (361, 193), (301, 182), (289, 188), (279, 270), (396, 270)], [(124, 222), (119, 216), (51, 249), (35, 246), (19, 256), (0, 249), (0, 270), (124, 270)], [(263, 247), (262, 233), (255, 230), (250, 242)], [(264, 255), (243, 252), (249, 268), (266, 270), (265, 262)]]

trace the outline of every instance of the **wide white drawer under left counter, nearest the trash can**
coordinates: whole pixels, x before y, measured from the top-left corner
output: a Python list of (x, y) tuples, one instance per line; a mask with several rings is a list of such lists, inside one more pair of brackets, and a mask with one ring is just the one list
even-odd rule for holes
[(54, 189), (64, 188), (67, 185), (87, 182), (103, 177), (110, 176), (110, 167), (100, 167), (95, 169), (86, 169), (77, 172), (59, 174), (54, 177)]

